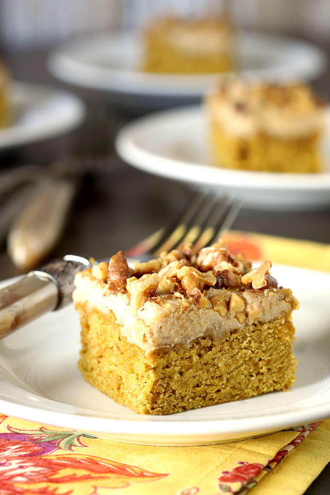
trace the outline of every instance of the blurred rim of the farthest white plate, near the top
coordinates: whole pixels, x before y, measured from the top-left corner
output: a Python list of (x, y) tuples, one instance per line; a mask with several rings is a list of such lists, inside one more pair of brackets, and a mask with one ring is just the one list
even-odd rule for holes
[[(325, 52), (308, 41), (262, 31), (241, 31), (237, 36), (237, 45), (240, 47), (238, 57), (243, 52), (241, 47), (246, 46), (247, 42), (257, 47), (273, 44), (273, 49), (274, 46), (281, 46), (282, 44), (283, 57), (282, 62), (279, 64), (278, 53), (277, 64), (279, 66), (274, 62), (273, 66), (269, 68), (243, 69), (242, 72), (249, 77), (268, 77), (272, 80), (281, 80), (283, 78), (312, 79), (320, 74), (327, 65)], [(109, 46), (110, 49), (111, 46), (117, 46), (117, 49), (120, 50), (121, 46), (127, 45), (127, 43), (131, 44), (132, 47), (138, 46), (141, 49), (139, 35), (130, 32), (98, 33), (82, 36), (55, 49), (48, 57), (48, 68), (56, 77), (71, 84), (109, 92), (137, 94), (143, 97), (200, 97), (205, 87), (208, 87), (215, 78), (223, 75), (143, 73), (130, 65), (126, 69), (120, 69), (111, 65), (97, 64), (95, 60), (93, 61), (93, 57), (94, 59), (95, 57), (98, 58), (104, 52), (104, 46)], [(286, 50), (283, 50), (283, 44), (286, 44)], [(265, 48), (262, 49), (264, 50)], [(291, 59), (288, 60), (286, 57), (290, 54), (290, 49), (292, 50)], [(285, 55), (283, 55), (284, 51)], [(84, 53), (83, 59), (81, 59), (82, 52)], [(85, 52), (88, 54), (87, 58)], [(297, 56), (298, 52), (301, 52), (299, 57)], [(292, 56), (293, 53), (295, 56)], [(88, 60), (88, 56), (92, 58), (92, 61)], [(300, 60), (299, 62), (298, 59)]]

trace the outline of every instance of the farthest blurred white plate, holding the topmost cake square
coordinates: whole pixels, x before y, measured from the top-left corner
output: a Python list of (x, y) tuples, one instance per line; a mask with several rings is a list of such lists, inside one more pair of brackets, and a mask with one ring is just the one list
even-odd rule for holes
[[(271, 80), (309, 79), (326, 66), (321, 49), (284, 36), (242, 32), (237, 35), (239, 70)], [(139, 71), (141, 38), (132, 33), (92, 35), (68, 43), (49, 58), (60, 79), (98, 90), (141, 97), (200, 97), (214, 75), (168, 75)], [(137, 98), (138, 100), (138, 98)], [(138, 102), (138, 101), (137, 101)]]

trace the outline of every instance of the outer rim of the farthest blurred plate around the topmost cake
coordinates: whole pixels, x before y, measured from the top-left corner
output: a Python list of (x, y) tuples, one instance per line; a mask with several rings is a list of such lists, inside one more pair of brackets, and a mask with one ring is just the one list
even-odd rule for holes
[[(283, 77), (312, 79), (322, 73), (327, 66), (327, 56), (325, 51), (318, 45), (307, 40), (301, 40), (293, 36), (284, 34), (274, 34), (262, 30), (239, 30), (237, 34), (237, 45), (242, 44), (244, 37), (250, 40), (259, 39), (267, 40), (273, 43), (286, 43), (291, 45), (292, 49), (305, 50), (309, 53), (310, 62), (303, 70), (301, 67), (292, 72), (292, 64), (286, 63), (286, 72), (291, 70), (289, 75), (283, 76), (283, 67), (281, 71), (274, 65), (272, 69), (250, 69), (243, 70), (244, 74), (249, 77), (269, 77), (272, 80), (279, 80)], [(86, 60), (79, 60), (77, 53), (84, 46), (91, 46), (92, 43), (97, 45), (97, 41), (104, 44), (118, 40), (132, 40), (131, 43), (138, 43), (141, 46), (141, 37), (139, 33), (128, 30), (100, 32), (89, 35), (79, 36), (72, 41), (62, 44), (55, 49), (47, 59), (47, 65), (50, 72), (57, 78), (76, 84), (78, 86), (94, 88), (96, 90), (109, 91), (120, 94), (136, 94), (139, 96), (155, 97), (200, 97), (205, 85), (210, 85), (215, 79), (219, 79), (222, 74), (206, 75), (169, 75), (157, 73), (143, 73), (138, 70), (116, 69), (113, 67), (97, 66), (88, 63)], [(118, 43), (120, 46), (120, 43)], [(78, 49), (77, 49), (78, 47)], [(80, 48), (79, 48), (80, 47)], [(76, 56), (72, 56), (76, 52)], [(275, 68), (275, 74), (274, 74)], [(284, 72), (285, 72), (284, 71)], [(227, 73), (232, 74), (232, 73)], [(123, 82), (125, 84), (123, 84)]]

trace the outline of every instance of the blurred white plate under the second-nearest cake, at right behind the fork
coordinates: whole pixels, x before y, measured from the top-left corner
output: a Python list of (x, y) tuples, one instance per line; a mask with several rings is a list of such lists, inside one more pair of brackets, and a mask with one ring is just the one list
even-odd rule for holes
[(164, 110), (139, 118), (119, 132), (116, 148), (131, 165), (194, 187), (232, 192), (246, 205), (276, 209), (330, 204), (330, 111), (322, 154), (326, 172), (284, 174), (223, 169), (211, 165), (207, 121), (201, 106)]

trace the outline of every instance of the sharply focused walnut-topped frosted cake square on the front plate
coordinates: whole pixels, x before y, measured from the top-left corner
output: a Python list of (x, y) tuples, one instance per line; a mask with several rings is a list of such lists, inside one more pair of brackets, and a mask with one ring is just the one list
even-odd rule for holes
[(290, 289), (218, 243), (129, 268), (122, 251), (76, 275), (79, 369), (138, 413), (170, 414), (294, 382), (298, 302)]

